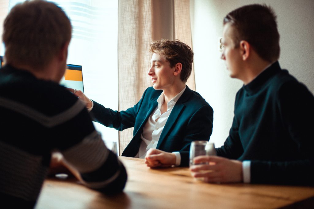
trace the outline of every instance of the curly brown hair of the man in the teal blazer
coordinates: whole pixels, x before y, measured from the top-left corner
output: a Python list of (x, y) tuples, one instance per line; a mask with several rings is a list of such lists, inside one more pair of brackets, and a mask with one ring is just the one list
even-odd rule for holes
[(150, 44), (150, 52), (162, 55), (174, 67), (177, 63), (182, 64), (180, 79), (187, 82), (192, 72), (192, 63), (194, 53), (187, 44), (174, 40), (161, 39)]

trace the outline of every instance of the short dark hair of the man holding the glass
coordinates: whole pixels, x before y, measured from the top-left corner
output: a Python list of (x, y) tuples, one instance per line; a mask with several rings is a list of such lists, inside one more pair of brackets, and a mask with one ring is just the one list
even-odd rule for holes
[(262, 59), (274, 62), (280, 54), (276, 18), (273, 9), (266, 4), (251, 4), (228, 13), (224, 25), (231, 24), (234, 29), (235, 47), (246, 40)]

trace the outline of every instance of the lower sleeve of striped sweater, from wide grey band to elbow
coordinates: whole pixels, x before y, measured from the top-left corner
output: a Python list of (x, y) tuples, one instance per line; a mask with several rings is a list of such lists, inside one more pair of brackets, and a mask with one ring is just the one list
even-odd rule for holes
[(106, 148), (97, 131), (62, 151), (65, 160), (80, 172), (83, 183), (105, 193), (122, 191), (127, 173), (117, 156)]

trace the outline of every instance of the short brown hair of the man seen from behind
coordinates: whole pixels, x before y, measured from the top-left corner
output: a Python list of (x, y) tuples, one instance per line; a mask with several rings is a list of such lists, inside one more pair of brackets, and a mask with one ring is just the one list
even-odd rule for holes
[(3, 23), (6, 63), (42, 69), (71, 39), (69, 18), (56, 4), (43, 0), (15, 5)]

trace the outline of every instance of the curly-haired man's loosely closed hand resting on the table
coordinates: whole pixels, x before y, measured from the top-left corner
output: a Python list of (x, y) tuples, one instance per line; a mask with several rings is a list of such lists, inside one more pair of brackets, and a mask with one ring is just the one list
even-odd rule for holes
[(159, 149), (149, 149), (145, 156), (145, 163), (148, 167), (170, 167), (176, 165), (176, 155)]

